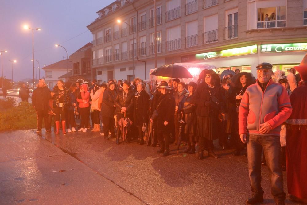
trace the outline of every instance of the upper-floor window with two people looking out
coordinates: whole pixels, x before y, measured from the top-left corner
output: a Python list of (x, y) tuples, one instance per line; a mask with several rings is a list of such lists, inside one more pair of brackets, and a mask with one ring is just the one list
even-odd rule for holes
[(286, 6), (258, 8), (257, 29), (286, 27)]

